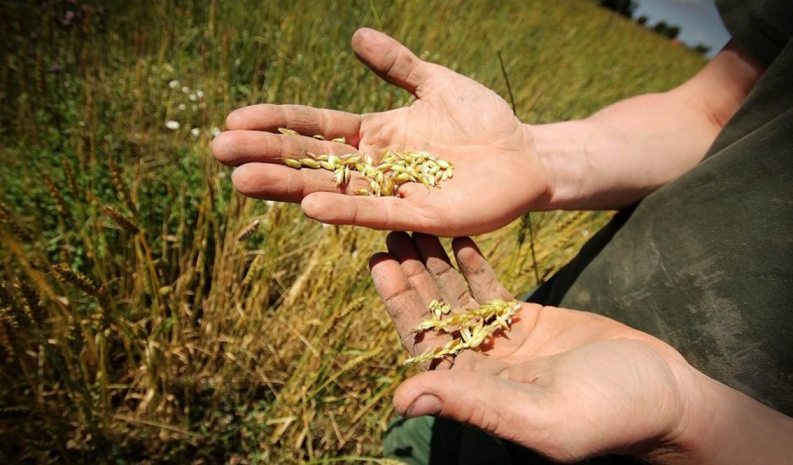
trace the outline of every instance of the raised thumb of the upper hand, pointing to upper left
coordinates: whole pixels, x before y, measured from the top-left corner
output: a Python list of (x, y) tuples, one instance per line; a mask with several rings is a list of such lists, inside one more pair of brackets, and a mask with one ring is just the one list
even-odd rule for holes
[(374, 29), (358, 29), (352, 37), (352, 49), (358, 59), (385, 81), (420, 97), (421, 86), (431, 75), (430, 63)]

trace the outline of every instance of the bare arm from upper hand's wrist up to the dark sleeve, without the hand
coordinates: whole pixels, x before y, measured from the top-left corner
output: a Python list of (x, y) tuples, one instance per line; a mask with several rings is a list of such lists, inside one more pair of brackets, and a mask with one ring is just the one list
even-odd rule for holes
[(673, 90), (585, 120), (527, 126), (550, 178), (547, 209), (625, 207), (691, 170), (762, 72), (730, 43)]

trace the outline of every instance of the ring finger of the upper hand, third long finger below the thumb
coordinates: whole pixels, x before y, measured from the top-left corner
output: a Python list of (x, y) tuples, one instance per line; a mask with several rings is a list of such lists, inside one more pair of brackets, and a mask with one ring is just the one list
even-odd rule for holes
[(351, 194), (355, 189), (363, 189), (368, 185), (360, 177), (353, 177), (347, 185), (338, 187), (333, 180), (333, 173), (326, 170), (293, 170), (270, 163), (239, 166), (232, 173), (232, 183), (244, 196), (293, 203), (300, 202), (311, 192), (335, 192), (331, 195), (346, 197), (339, 193)]

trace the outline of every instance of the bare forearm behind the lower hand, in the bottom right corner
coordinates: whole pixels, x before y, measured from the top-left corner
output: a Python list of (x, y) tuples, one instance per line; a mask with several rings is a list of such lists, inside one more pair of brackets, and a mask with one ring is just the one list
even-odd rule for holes
[(669, 448), (653, 463), (787, 463), (793, 418), (697, 372), (699, 392)]

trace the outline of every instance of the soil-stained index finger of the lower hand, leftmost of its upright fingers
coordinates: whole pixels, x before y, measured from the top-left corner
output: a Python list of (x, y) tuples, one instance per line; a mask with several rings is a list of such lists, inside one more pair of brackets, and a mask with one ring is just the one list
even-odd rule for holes
[[(413, 334), (416, 327), (429, 314), (427, 301), (416, 289), (412, 288), (408, 276), (400, 266), (400, 262), (388, 253), (376, 253), (369, 262), (370, 273), (377, 293), (385, 304), (385, 311), (393, 321), (394, 327), (402, 340), (405, 349), (412, 355), (419, 355), (427, 349), (439, 347), (450, 341), (446, 334), (425, 332)], [(448, 368), (449, 361), (442, 361), (434, 368)], [(429, 368), (425, 364), (423, 368)]]

